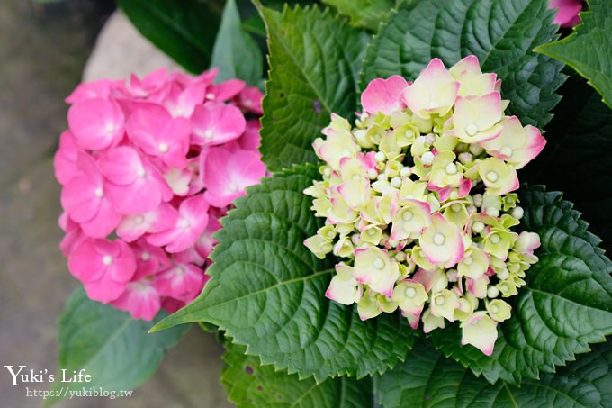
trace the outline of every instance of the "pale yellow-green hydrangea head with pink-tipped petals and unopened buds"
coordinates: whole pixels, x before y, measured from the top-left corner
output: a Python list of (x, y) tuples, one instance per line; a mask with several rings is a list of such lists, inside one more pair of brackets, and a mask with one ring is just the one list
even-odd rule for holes
[(426, 333), (457, 321), (462, 343), (491, 355), (540, 245), (512, 231), (517, 170), (545, 146), (504, 114), (500, 85), (475, 56), (450, 69), (433, 59), (412, 83), (370, 82), (354, 128), (332, 113), (313, 143), (322, 181), (304, 190), (326, 220), (305, 245), (342, 258), (329, 299), (362, 320), (400, 309)]

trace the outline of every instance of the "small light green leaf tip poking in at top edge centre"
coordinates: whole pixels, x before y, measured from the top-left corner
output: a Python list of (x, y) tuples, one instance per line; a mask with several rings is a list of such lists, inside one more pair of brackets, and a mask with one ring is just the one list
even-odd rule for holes
[(387, 20), (395, 5), (394, 0), (323, 0), (323, 3), (347, 15), (353, 25), (373, 32)]

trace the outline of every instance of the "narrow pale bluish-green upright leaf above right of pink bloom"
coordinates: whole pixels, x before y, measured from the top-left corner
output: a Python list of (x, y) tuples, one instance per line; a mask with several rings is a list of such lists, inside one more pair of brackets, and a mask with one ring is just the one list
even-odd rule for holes
[(258, 86), (263, 76), (263, 65), (257, 43), (242, 31), (236, 1), (227, 0), (212, 50), (211, 68), (219, 68), (215, 81), (238, 78), (244, 79), (249, 86)]

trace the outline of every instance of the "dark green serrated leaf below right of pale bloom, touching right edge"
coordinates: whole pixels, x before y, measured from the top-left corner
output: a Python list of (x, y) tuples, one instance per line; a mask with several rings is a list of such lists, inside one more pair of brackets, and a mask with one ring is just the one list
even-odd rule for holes
[(520, 384), (541, 371), (552, 373), (612, 334), (612, 262), (597, 247), (599, 238), (561, 193), (523, 187), (519, 197), (525, 208), (521, 228), (537, 232), (542, 245), (527, 286), (511, 298), (512, 317), (498, 326), (492, 356), (461, 346), (456, 325), (430, 335), (437, 348), (491, 383), (501, 378)]

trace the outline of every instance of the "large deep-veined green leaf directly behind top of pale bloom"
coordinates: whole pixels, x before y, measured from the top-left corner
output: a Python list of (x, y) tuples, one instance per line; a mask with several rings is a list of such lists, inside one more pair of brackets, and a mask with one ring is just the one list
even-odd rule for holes
[(509, 111), (543, 127), (559, 102), (563, 64), (533, 52), (555, 38), (554, 12), (547, 0), (411, 1), (392, 14), (368, 47), (362, 89), (375, 77), (409, 79), (437, 57), (446, 66), (476, 55), (483, 72), (501, 78)]

